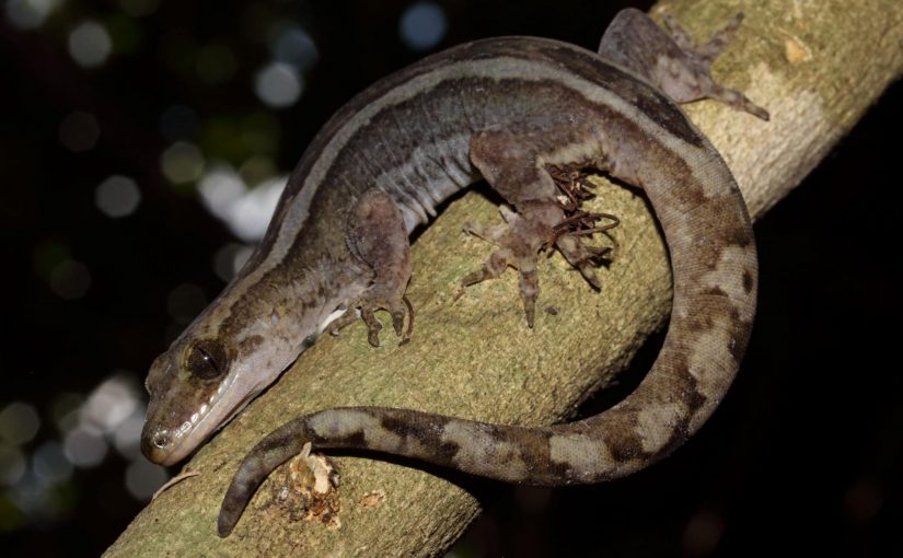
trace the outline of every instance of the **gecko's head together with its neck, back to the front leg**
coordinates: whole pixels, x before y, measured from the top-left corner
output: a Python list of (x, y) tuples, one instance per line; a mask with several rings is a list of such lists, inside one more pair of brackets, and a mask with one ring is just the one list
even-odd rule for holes
[(285, 299), (274, 301), (267, 282), (233, 282), (153, 361), (141, 432), (148, 460), (173, 465), (187, 457), (274, 383), (344, 312), (333, 311), (363, 289), (354, 283), (327, 292), (316, 311), (298, 312), (292, 305), (309, 293), (292, 291), (292, 284), (320, 286), (298, 279), (282, 287)]

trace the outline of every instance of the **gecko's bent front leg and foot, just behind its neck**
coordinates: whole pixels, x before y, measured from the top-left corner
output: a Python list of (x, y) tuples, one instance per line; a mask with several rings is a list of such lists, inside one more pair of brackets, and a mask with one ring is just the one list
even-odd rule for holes
[[(360, 317), (367, 324), (367, 340), (373, 347), (380, 346), (382, 324), (374, 312), (385, 310), (404, 345), (414, 324), (414, 307), (405, 297), (412, 272), (410, 244), (402, 212), (389, 194), (373, 188), (358, 199), (348, 216), (345, 242), (351, 254), (372, 272), (363, 293), (347, 304), (349, 309), (360, 309)], [(408, 315), (407, 332), (404, 332), (405, 314)], [(356, 313), (349, 311), (333, 323), (332, 332), (356, 321)]]

